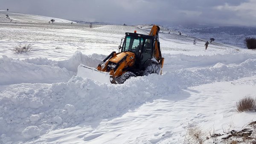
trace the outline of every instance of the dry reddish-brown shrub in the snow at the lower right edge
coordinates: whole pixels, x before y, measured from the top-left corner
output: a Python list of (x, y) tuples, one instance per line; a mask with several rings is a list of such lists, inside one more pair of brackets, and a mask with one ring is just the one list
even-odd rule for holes
[(256, 99), (250, 95), (246, 95), (244, 98), (236, 102), (237, 112), (252, 111), (256, 108)]

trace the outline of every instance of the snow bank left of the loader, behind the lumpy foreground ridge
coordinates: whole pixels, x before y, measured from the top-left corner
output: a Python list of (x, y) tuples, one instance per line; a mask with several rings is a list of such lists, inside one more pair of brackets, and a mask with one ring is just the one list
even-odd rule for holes
[[(100, 57), (100, 55), (94, 55), (94, 57), (97, 56)], [(15, 60), (2, 57), (0, 58), (0, 85), (67, 82), (76, 75), (80, 63), (95, 67), (101, 62), (92, 56), (82, 55), (81, 52), (76, 52), (71, 58), (62, 61), (47, 58)]]

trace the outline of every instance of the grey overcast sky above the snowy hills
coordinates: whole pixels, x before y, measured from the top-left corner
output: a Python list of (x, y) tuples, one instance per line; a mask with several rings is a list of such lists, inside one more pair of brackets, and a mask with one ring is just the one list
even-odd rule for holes
[(256, 26), (256, 0), (0, 0), (0, 10), (128, 25)]

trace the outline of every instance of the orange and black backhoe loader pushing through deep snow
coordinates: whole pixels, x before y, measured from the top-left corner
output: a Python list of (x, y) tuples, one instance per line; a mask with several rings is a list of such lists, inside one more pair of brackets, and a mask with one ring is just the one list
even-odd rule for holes
[(119, 45), (121, 52), (112, 52), (96, 69), (80, 64), (77, 76), (123, 84), (131, 77), (162, 74), (164, 58), (160, 51), (159, 30), (159, 26), (154, 25), (149, 35), (126, 32)]

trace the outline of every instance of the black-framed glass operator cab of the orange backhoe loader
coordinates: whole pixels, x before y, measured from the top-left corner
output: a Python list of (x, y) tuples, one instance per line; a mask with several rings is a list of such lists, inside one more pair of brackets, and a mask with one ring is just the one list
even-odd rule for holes
[(135, 66), (142, 67), (145, 61), (153, 56), (155, 38), (151, 35), (126, 32), (121, 52), (133, 52), (135, 54)]

